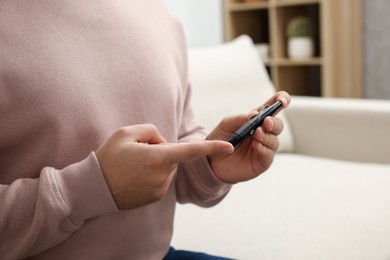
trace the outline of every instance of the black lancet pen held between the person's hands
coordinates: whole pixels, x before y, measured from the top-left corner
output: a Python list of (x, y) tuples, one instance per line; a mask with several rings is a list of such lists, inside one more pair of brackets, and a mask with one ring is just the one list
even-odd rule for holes
[(234, 147), (239, 146), (246, 138), (252, 136), (256, 129), (261, 126), (267, 116), (273, 116), (279, 108), (282, 107), (282, 102), (276, 101), (270, 106), (265, 106), (257, 115), (252, 117), (240, 129), (238, 129), (228, 140)]

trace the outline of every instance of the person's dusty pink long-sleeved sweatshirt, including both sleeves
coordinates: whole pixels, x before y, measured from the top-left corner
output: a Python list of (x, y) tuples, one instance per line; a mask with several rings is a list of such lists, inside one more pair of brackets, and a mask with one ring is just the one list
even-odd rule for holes
[(162, 259), (176, 202), (212, 206), (230, 186), (195, 159), (161, 201), (120, 211), (93, 151), (142, 123), (204, 139), (188, 78), (159, 0), (1, 0), (0, 258)]

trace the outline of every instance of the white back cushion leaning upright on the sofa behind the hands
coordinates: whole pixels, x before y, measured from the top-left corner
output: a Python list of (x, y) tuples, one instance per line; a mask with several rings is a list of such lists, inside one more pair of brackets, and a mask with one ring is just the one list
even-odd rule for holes
[[(195, 115), (212, 130), (223, 117), (246, 113), (275, 94), (264, 64), (248, 36), (218, 46), (189, 50), (189, 72)], [(293, 150), (293, 138), (284, 112), (285, 128), (279, 151)]]

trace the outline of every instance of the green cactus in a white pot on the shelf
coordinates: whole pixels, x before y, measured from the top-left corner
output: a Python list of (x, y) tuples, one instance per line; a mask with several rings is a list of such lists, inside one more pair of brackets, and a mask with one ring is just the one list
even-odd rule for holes
[(314, 55), (313, 25), (309, 18), (299, 16), (287, 25), (287, 54), (292, 59), (303, 59)]

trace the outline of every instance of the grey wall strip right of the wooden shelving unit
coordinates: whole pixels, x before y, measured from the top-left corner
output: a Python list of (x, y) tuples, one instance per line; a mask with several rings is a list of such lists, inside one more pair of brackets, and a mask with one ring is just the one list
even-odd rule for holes
[(365, 96), (390, 99), (390, 1), (363, 2)]

